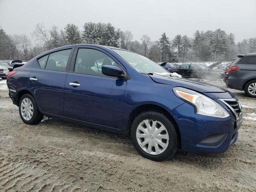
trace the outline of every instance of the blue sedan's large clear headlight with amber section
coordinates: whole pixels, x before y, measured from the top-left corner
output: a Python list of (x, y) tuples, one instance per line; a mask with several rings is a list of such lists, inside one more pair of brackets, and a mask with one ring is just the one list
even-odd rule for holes
[(218, 118), (230, 116), (220, 104), (198, 92), (183, 87), (174, 87), (172, 90), (178, 98), (194, 106), (197, 114)]

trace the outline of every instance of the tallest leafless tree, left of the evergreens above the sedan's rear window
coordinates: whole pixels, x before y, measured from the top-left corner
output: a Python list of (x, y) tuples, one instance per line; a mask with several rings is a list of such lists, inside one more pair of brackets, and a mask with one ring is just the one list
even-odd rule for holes
[(36, 36), (36, 40), (44, 42), (48, 50), (52, 49), (52, 34), (45, 29), (43, 23), (36, 24), (36, 29), (32, 34)]

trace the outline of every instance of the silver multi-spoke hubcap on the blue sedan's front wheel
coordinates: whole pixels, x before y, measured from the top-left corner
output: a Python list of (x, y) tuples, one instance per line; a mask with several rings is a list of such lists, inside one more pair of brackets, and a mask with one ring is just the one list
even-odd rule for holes
[(169, 144), (165, 126), (156, 120), (143, 120), (137, 127), (136, 138), (140, 147), (151, 155), (161, 154)]

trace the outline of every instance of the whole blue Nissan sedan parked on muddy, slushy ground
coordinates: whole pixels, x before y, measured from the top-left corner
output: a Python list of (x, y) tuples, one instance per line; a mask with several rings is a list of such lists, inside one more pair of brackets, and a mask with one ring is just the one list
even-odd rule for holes
[(131, 136), (145, 158), (176, 150), (225, 152), (238, 138), (242, 108), (222, 88), (171, 77), (148, 58), (79, 44), (44, 52), (7, 76), (26, 124), (43, 115)]

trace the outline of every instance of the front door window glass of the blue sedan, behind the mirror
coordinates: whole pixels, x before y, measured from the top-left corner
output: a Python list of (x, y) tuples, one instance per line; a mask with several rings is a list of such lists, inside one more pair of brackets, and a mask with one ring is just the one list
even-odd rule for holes
[(98, 50), (80, 48), (76, 56), (74, 72), (104, 75), (101, 72), (103, 65), (118, 66), (112, 58)]

